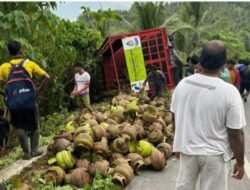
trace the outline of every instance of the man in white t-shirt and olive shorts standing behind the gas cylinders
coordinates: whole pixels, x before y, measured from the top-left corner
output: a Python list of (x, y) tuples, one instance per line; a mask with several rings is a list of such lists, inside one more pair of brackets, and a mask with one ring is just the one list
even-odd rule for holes
[(83, 106), (87, 107), (90, 112), (93, 112), (89, 97), (90, 75), (83, 69), (81, 63), (76, 63), (74, 68), (76, 73), (75, 86), (71, 93), (71, 97), (76, 97), (80, 113), (82, 113)]

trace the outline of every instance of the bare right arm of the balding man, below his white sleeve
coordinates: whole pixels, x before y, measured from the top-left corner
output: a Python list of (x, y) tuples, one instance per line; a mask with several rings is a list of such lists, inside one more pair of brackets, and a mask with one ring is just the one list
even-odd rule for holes
[(244, 153), (245, 153), (245, 138), (243, 129), (229, 129), (228, 138), (230, 147), (234, 153), (236, 164), (234, 165), (233, 177), (242, 179), (244, 175)]

